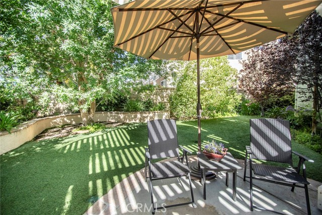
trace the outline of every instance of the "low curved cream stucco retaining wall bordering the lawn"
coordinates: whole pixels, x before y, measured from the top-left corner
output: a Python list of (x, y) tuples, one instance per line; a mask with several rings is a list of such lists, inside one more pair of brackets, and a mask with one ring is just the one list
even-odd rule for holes
[[(146, 122), (153, 119), (169, 119), (170, 111), (154, 112), (96, 112), (95, 122)], [(32, 140), (43, 130), (65, 125), (82, 123), (81, 114), (65, 114), (33, 119), (8, 131), (0, 131), (0, 155), (16, 149), (25, 142)]]

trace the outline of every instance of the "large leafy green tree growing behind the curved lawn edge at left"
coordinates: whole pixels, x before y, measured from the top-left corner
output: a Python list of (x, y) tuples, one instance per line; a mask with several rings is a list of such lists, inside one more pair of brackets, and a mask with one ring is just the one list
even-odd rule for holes
[(93, 123), (97, 101), (163, 68), (163, 61), (113, 48), (112, 1), (5, 0), (3, 6), (1, 71), (47, 78), (57, 98), (81, 111), (84, 124)]

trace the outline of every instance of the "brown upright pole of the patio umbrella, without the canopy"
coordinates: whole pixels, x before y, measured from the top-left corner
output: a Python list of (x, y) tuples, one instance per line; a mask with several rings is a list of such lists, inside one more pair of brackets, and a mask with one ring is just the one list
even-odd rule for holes
[[(200, 36), (199, 36), (200, 37)], [(201, 104), (200, 104), (200, 53), (199, 53), (199, 37), (197, 36), (197, 118), (198, 118), (198, 152), (201, 152)]]

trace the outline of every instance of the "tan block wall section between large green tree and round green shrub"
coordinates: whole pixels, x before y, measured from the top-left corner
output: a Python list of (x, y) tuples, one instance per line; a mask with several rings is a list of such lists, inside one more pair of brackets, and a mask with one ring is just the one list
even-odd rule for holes
[(155, 88), (153, 92), (137, 93), (132, 92), (130, 99), (147, 100), (152, 99), (154, 103), (164, 103), (166, 108), (170, 107), (170, 95), (175, 88)]

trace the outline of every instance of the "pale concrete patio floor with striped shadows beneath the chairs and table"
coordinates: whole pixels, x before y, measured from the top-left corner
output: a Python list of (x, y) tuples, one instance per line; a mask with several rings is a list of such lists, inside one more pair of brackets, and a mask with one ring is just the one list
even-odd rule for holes
[[(189, 157), (189, 162), (196, 161)], [(244, 161), (237, 160), (243, 167)], [(249, 174), (249, 172), (248, 172)], [(229, 186), (225, 185), (225, 173), (207, 181), (207, 199), (203, 199), (203, 186), (193, 180), (196, 207), (191, 204), (159, 209), (155, 214), (272, 214), (275, 210), (285, 214), (306, 214), (304, 189), (254, 182), (254, 205), (268, 210), (250, 210), (250, 183), (243, 181), (244, 169), (237, 172), (236, 201), (232, 199), (232, 173), (229, 173)], [(309, 198), (312, 214), (322, 214), (317, 208), (317, 187), (322, 183), (309, 180)], [(149, 181), (145, 182), (144, 169), (132, 174), (117, 184), (100, 198), (85, 214), (152, 214)], [(154, 203), (158, 206), (190, 201), (189, 181), (186, 177), (153, 181)], [(274, 213), (273, 213), (274, 214)]]

